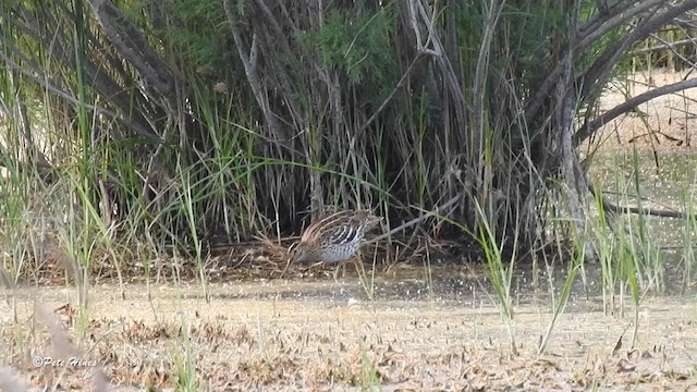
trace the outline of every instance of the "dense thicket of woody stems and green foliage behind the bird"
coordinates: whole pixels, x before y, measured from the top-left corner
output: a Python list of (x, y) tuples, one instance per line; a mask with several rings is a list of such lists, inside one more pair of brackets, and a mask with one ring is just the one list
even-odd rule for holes
[(603, 113), (603, 87), (692, 66), (689, 45), (636, 50), (689, 37), (695, 5), (4, 0), (3, 247), (200, 258), (211, 233), (297, 233), (333, 206), (541, 248), (585, 231), (577, 147), (650, 98)]

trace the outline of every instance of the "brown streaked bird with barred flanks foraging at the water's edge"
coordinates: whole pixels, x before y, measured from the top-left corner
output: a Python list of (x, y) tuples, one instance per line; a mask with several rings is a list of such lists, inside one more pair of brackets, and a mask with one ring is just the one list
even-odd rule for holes
[[(289, 248), (290, 262), (342, 262), (351, 259), (365, 233), (382, 221), (369, 210), (343, 210), (313, 222)], [(335, 273), (339, 271), (334, 271)]]

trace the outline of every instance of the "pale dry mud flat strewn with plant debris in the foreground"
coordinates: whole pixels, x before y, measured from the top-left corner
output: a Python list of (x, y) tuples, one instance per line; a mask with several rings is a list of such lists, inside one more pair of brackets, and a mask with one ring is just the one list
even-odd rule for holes
[[(301, 295), (332, 289), (330, 297)], [(631, 309), (612, 317), (574, 306), (578, 310), (561, 316), (547, 352), (538, 355), (552, 319), (549, 299), (516, 307), (513, 354), (488, 296), (444, 304), (345, 294), (359, 289), (353, 278), (340, 284), (233, 283), (212, 286), (206, 303), (199, 286), (156, 286), (152, 302), (143, 286), (129, 287), (126, 301), (118, 287), (101, 286), (91, 289), (82, 318), (74, 289), (17, 290), (11, 297), (19, 323), (11, 321), (13, 307), (0, 305), (1, 355), (34, 388), (82, 388), (101, 368), (119, 385), (113, 390), (169, 389), (189, 358), (200, 390), (353, 391), (369, 385), (366, 369), (375, 369), (383, 390), (697, 391), (694, 299), (646, 301), (634, 348)], [(291, 292), (301, 294), (283, 298)], [(41, 317), (28, 329), (35, 308), (56, 315), (73, 342), (84, 331), (82, 348), (63, 345), (63, 356), (100, 367), (33, 366), (35, 356), (61, 356)], [(53, 341), (61, 333), (52, 332)], [(621, 336), (622, 347), (613, 353)]]

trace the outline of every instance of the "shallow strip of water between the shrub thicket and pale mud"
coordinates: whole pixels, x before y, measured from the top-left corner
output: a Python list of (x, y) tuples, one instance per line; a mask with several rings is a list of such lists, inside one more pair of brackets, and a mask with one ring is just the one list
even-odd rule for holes
[[(348, 267), (351, 268), (351, 267)], [(557, 266), (549, 271), (533, 271), (530, 266), (517, 266), (511, 285), (511, 301), (515, 307), (533, 306), (539, 311), (551, 311), (558, 301), (560, 291), (566, 279), (566, 266)], [(401, 273), (376, 273), (375, 278), (362, 281), (348, 271), (339, 281), (329, 279), (314, 280), (248, 280), (227, 283), (213, 283), (207, 287), (209, 298), (218, 302), (258, 301), (286, 302), (304, 304), (321, 304), (321, 306), (343, 307), (353, 304), (369, 304), (376, 308), (496, 308), (498, 299), (487, 275), (487, 267), (473, 266), (436, 266), (429, 268), (406, 267)], [(537, 275), (537, 279), (534, 277)], [(608, 309), (609, 293), (602, 292), (602, 271), (599, 265), (588, 265), (579, 271), (572, 285), (571, 296), (565, 311), (603, 311)], [(669, 281), (672, 281), (669, 279)], [(684, 302), (694, 299), (697, 285), (668, 285), (662, 292), (641, 287), (643, 297), (651, 301)], [(105, 292), (106, 287), (110, 287)], [(650, 286), (653, 287), (653, 286)], [(204, 301), (205, 290), (198, 282), (175, 285), (171, 282), (151, 284), (126, 283), (124, 286), (126, 302), (143, 299), (148, 295), (159, 301)], [(113, 283), (97, 284), (90, 292), (97, 297), (110, 297), (120, 303), (120, 290)], [(74, 287), (25, 287), (5, 292), (10, 297), (21, 301), (36, 302), (74, 302)], [(62, 295), (62, 299), (61, 299)], [(626, 304), (631, 308), (632, 296), (627, 292), (615, 290), (616, 305)], [(617, 309), (615, 309), (617, 310)]]

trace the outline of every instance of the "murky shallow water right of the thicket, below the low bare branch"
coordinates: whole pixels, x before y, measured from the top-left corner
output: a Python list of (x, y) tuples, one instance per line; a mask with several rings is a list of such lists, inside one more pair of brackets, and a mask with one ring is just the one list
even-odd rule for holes
[[(697, 211), (697, 154), (674, 152), (670, 149), (653, 155), (650, 150), (599, 152), (594, 157), (589, 177), (604, 192), (607, 199), (617, 206), (653, 208), (658, 210)], [(623, 225), (639, 238), (636, 216), (632, 225)], [(626, 220), (625, 220), (626, 222)], [(667, 295), (693, 294), (697, 285), (697, 232), (689, 219), (646, 217), (647, 238), (637, 244), (649, 246), (649, 257), (662, 265), (661, 275), (644, 275), (643, 291), (653, 290)], [(635, 240), (637, 241), (637, 240)], [(590, 273), (597, 275), (596, 271)], [(650, 287), (649, 287), (650, 285)]]

